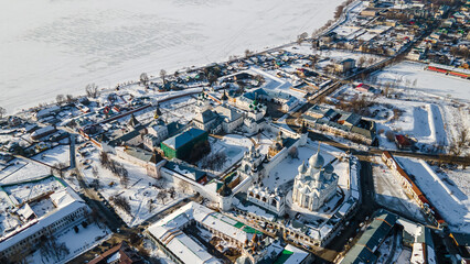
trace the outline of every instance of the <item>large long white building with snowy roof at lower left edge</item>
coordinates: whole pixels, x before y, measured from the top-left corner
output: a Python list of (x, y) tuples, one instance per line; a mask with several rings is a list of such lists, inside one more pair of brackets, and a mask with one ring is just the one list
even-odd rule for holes
[[(8, 230), (1, 227), (0, 258), (29, 254), (42, 238), (77, 226), (85, 220), (85, 212), (88, 211), (85, 201), (70, 187), (57, 183), (58, 180), (53, 176), (46, 176), (35, 182), (2, 186), (0, 196), (9, 197), (1, 200), (2, 206), (8, 207), (2, 218), (4, 221), (14, 218), (17, 224)], [(24, 196), (23, 190), (26, 188), (30, 191), (28, 196)]]

